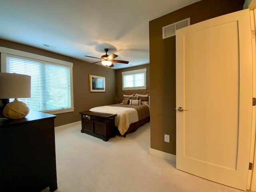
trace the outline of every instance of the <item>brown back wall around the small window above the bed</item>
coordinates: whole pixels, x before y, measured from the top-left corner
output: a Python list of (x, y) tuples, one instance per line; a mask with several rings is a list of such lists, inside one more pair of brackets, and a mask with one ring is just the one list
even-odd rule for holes
[(147, 69), (147, 72), (146, 72), (146, 75), (147, 75), (147, 78), (146, 78), (146, 80), (147, 80), (147, 90), (150, 90), (150, 65), (149, 64), (116, 70), (116, 97), (117, 97), (116, 102), (120, 103), (123, 100), (122, 72), (132, 71), (132, 70), (137, 70), (137, 69), (144, 69), (144, 68)]

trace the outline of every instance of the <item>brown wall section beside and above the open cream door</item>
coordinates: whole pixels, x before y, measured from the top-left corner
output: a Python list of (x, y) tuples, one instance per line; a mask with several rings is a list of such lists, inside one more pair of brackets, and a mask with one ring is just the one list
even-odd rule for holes
[[(190, 17), (190, 23), (243, 9), (244, 0), (202, 0), (149, 22), (150, 147), (176, 154), (175, 36), (162, 39), (162, 27)], [(164, 142), (170, 135), (170, 143)]]

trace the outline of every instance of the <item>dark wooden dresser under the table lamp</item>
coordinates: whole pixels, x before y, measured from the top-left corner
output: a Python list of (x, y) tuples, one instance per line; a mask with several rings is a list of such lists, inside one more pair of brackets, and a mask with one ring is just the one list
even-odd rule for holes
[(0, 191), (57, 189), (55, 117), (30, 111), (22, 119), (0, 119)]

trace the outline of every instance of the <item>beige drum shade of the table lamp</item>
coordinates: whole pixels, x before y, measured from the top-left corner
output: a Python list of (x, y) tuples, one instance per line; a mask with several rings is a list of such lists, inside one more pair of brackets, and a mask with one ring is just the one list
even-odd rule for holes
[(0, 73), (0, 99), (30, 98), (31, 77), (16, 73)]

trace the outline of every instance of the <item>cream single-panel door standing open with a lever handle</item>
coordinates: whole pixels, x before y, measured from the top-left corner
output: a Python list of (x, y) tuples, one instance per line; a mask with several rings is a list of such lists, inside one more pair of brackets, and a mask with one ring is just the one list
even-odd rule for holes
[(250, 12), (176, 32), (176, 167), (246, 190), (252, 128)]

